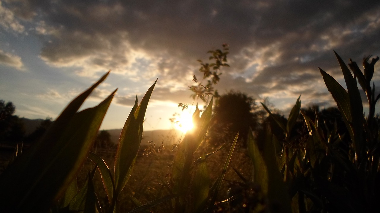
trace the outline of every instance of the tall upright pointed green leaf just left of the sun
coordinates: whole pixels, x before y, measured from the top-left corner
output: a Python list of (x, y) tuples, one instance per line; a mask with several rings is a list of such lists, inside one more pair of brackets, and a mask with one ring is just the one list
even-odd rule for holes
[(135, 157), (138, 153), (142, 139), (142, 127), (146, 108), (156, 83), (157, 80), (152, 86), (150, 86), (145, 96), (142, 98), (140, 105), (137, 104), (136, 97), (135, 106), (132, 108), (120, 134), (114, 167), (115, 196), (120, 194), (123, 190), (128, 182), (131, 171), (133, 170)]

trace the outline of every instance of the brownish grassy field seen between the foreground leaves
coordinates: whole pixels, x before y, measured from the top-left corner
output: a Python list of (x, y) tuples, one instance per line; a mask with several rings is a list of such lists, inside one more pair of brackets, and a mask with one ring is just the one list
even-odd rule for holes
[[(136, 208), (130, 196), (135, 197), (144, 204), (169, 194), (167, 184), (170, 183), (169, 174), (171, 172), (176, 149), (172, 151), (170, 144), (168, 144), (168, 146), (160, 152), (157, 152), (158, 147), (156, 147), (156, 149), (152, 150), (149, 155), (143, 155), (142, 153), (144, 153), (144, 149), (147, 149), (148, 147), (149, 146), (141, 146), (139, 149), (135, 169), (133, 170), (130, 180), (120, 194), (120, 205), (118, 207), (120, 212), (128, 212)], [(208, 148), (207, 152), (212, 152), (214, 149)], [(196, 156), (201, 156), (200, 150), (198, 150)], [(102, 150), (101, 152), (98, 152), (98, 155), (106, 161), (111, 170), (114, 165), (115, 152), (116, 150)], [(207, 168), (209, 169), (210, 180), (212, 183), (215, 182), (220, 175), (227, 154), (228, 148), (226, 147), (208, 158)], [(93, 167), (94, 164), (90, 160), (87, 160), (84, 167), (79, 172), (78, 181), (83, 183)], [(226, 172), (225, 181), (220, 190), (220, 195), (218, 197), (219, 201), (228, 198), (228, 190), (236, 190), (239, 188), (238, 185), (234, 184), (235, 182), (242, 182), (232, 168), (237, 169), (245, 176), (245, 178), (250, 178), (252, 175), (252, 162), (247, 156), (246, 149), (241, 147), (236, 148), (230, 161), (230, 167)], [(97, 192), (98, 199), (102, 202), (103, 208), (107, 209), (108, 200), (103, 187), (103, 182), (98, 172), (95, 174), (93, 182), (95, 184), (95, 191)], [(173, 208), (170, 205), (172, 205), (170, 201), (158, 205), (158, 207), (154, 209), (154, 212), (170, 212)]]

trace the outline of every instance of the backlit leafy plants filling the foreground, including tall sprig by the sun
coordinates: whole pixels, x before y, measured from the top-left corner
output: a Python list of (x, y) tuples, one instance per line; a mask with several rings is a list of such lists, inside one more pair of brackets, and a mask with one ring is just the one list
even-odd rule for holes
[[(219, 68), (226, 65), (227, 47), (213, 50), (210, 59), (201, 61), (203, 79), (208, 84), (193, 80), (195, 98), (207, 102), (212, 85), (217, 83)], [(379, 119), (374, 108), (380, 95), (370, 81), (378, 58), (363, 60), (364, 72), (350, 60), (349, 67), (336, 54), (342, 69), (347, 91), (320, 69), (325, 84), (337, 103), (340, 120), (324, 119), (317, 108), (301, 109), (298, 97), (287, 119), (272, 113), (264, 118), (268, 126), (254, 136), (247, 134), (245, 150), (252, 171), (232, 168), (239, 181), (225, 180), (240, 133), (237, 133), (225, 152), (223, 168), (211, 179), (207, 164), (214, 152), (207, 153), (204, 143), (211, 123), (214, 97), (201, 114), (196, 106), (193, 113), (195, 127), (178, 144), (171, 163), (168, 179), (159, 177), (160, 194), (143, 204), (137, 193), (126, 198), (121, 194), (128, 185), (138, 158), (142, 138), (142, 123), (155, 82), (141, 102), (137, 97), (128, 115), (116, 149), (114, 166), (110, 168), (99, 155), (89, 152), (94, 148), (101, 121), (115, 92), (93, 108), (80, 112), (79, 107), (105, 78), (74, 99), (47, 129), (44, 136), (16, 160), (0, 176), (0, 210), (2, 212), (118, 212), (124, 202), (135, 205), (133, 212), (376, 212), (380, 200), (380, 152), (378, 149)], [(211, 67), (215, 71), (211, 71)], [(206, 74), (207, 73), (207, 74)], [(370, 113), (363, 116), (363, 105), (357, 86), (366, 92)], [(186, 104), (180, 107), (187, 107)], [(314, 111), (313, 111), (314, 110)], [(299, 118), (302, 118), (302, 123)], [(338, 118), (338, 117), (337, 117)], [(105, 132), (100, 132), (107, 138)], [(101, 144), (101, 141), (97, 142)], [(98, 147), (95, 145), (95, 148)], [(242, 149), (244, 150), (244, 149)], [(224, 150), (223, 150), (224, 151)], [(86, 158), (93, 162), (87, 179), (78, 187), (76, 174)], [(166, 166), (166, 165), (163, 165)], [(106, 207), (100, 204), (93, 177), (100, 172), (106, 193)], [(249, 174), (250, 173), (250, 174)], [(247, 177), (247, 174), (248, 177)], [(229, 190), (221, 191), (227, 183)], [(103, 207), (103, 208), (102, 208)]]

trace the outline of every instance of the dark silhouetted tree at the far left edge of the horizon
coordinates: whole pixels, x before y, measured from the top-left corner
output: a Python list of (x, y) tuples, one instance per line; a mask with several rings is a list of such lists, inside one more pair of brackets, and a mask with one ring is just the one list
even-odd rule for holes
[(0, 100), (0, 141), (20, 143), (24, 139), (24, 123), (13, 115), (16, 107), (12, 102)]

